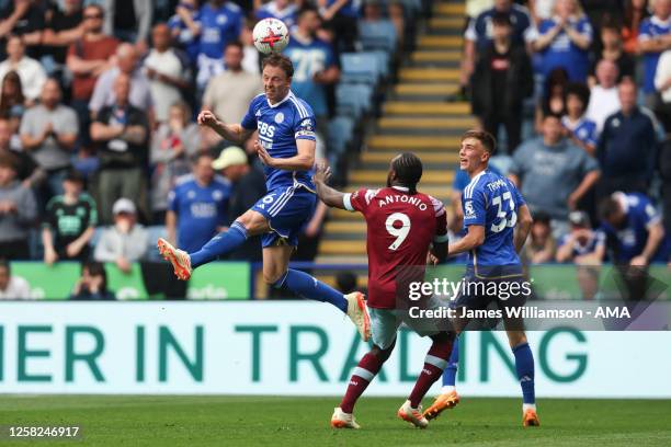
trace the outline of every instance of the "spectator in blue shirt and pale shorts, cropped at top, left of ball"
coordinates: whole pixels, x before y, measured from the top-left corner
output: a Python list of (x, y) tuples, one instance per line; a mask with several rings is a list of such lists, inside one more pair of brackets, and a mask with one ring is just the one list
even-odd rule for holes
[(209, 0), (201, 7), (198, 24), (201, 26), (201, 39), (196, 85), (203, 91), (209, 78), (225, 70), (221, 60), (224, 48), (230, 42), (240, 38), (243, 26), (242, 11), (232, 1)]

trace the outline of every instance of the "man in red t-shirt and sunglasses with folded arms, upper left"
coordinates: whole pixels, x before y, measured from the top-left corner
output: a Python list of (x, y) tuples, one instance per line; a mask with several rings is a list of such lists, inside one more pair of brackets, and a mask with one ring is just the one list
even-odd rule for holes
[(109, 68), (114, 67), (118, 41), (103, 34), (103, 19), (105, 11), (99, 4), (89, 4), (83, 12), (84, 35), (76, 41), (68, 49), (67, 66), (72, 72), (72, 107), (77, 111), (81, 126), (81, 142), (90, 144), (89, 100), (93, 94), (98, 77)]

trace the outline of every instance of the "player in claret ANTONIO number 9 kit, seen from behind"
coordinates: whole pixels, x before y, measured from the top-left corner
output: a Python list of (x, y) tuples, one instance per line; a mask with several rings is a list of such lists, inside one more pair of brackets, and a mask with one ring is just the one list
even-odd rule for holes
[(420, 402), (447, 365), (455, 334), (409, 318), (409, 298), (402, 291), (397, 294), (397, 280), (408, 268), (414, 272), (412, 276), (423, 279), (432, 243), (432, 255), (436, 262), (445, 259), (445, 209), (441, 202), (417, 191), (422, 163), (413, 153), (402, 153), (391, 160), (387, 187), (382, 190), (343, 194), (327, 186), (329, 173), (323, 165), (317, 168), (314, 180), (319, 198), (336, 208), (360, 211), (366, 219), (368, 309), (373, 339), (372, 349), (354, 369), (345, 396), (333, 412), (331, 426), (360, 427), (352, 414), (354, 404), (389, 358), (398, 328), (405, 322), (418, 334), (428, 335), (433, 341), (422, 373), (397, 413), (402, 420), (424, 428), (429, 421), (422, 415)]

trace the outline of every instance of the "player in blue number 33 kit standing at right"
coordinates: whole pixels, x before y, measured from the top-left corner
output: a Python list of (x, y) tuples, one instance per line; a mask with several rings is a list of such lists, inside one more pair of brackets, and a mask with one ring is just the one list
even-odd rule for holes
[[(448, 245), (450, 254), (468, 252), (468, 264), (464, 282), (477, 283), (521, 283), (522, 264), (518, 253), (522, 250), (532, 226), (532, 217), (524, 198), (508, 179), (488, 169), (489, 158), (496, 149), (493, 137), (485, 131), (469, 130), (462, 137), (459, 168), (468, 173), (470, 183), (462, 195), (464, 227), (468, 230), (458, 242)], [(518, 231), (514, 229), (518, 227)], [(459, 295), (453, 301), (457, 309), (485, 309), (491, 301), (499, 308), (521, 306), (521, 296), (501, 299), (496, 295), (478, 295), (477, 288)], [(489, 289), (484, 287), (482, 289)], [(466, 290), (469, 290), (468, 288)], [(457, 310), (457, 316), (462, 310)], [(505, 313), (504, 313), (505, 316)], [(455, 326), (460, 331), (468, 319), (457, 319)], [(510, 347), (515, 357), (515, 369), (522, 386), (522, 424), (541, 425), (536, 414), (534, 390), (534, 357), (526, 342), (523, 322), (519, 319), (503, 318)], [(441, 412), (458, 403), (454, 389), (458, 347), (455, 343), (450, 364), (443, 374), (443, 390), (435, 402), (427, 409), (428, 420), (437, 417)]]

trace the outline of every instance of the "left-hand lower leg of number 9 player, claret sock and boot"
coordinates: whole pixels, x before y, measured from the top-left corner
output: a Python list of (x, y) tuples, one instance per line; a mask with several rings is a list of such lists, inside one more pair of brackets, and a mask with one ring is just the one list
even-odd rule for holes
[(384, 349), (377, 345), (373, 345), (371, 351), (368, 351), (359, 362), (359, 365), (356, 365), (350, 378), (350, 385), (348, 386), (345, 396), (340, 402), (340, 406), (333, 409), (333, 415), (331, 416), (331, 426), (333, 428), (360, 427), (354, 420), (354, 405), (380, 370), (384, 363), (389, 358), (395, 345), (396, 339), (391, 342), (390, 346)]

